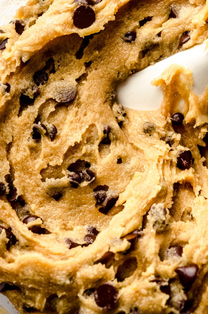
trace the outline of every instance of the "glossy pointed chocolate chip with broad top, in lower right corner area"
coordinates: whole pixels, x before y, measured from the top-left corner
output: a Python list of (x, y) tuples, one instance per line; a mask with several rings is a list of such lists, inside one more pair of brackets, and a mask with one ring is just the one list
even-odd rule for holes
[(197, 264), (190, 264), (176, 268), (175, 272), (178, 274), (183, 287), (189, 288), (196, 280), (198, 270), (199, 267)]

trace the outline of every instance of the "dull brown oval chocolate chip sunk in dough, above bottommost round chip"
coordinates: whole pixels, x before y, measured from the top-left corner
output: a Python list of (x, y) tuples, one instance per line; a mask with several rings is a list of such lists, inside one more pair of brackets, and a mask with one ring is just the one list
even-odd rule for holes
[(137, 259), (136, 257), (131, 257), (125, 262), (123, 262), (123, 264), (118, 266), (116, 279), (118, 281), (123, 281), (125, 278), (132, 276), (136, 269), (137, 269)]

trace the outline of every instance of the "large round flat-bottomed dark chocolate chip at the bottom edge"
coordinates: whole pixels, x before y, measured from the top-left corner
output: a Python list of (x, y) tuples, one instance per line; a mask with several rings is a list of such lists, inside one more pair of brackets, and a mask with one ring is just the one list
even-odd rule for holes
[(113, 310), (118, 304), (118, 291), (112, 284), (101, 284), (94, 293), (97, 306), (105, 311)]

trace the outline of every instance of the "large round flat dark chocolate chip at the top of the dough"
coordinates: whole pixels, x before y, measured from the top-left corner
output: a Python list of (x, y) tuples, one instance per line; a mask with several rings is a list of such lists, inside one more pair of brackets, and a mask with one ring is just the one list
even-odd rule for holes
[(90, 6), (80, 5), (74, 9), (72, 19), (76, 27), (84, 29), (90, 27), (95, 22), (96, 16)]

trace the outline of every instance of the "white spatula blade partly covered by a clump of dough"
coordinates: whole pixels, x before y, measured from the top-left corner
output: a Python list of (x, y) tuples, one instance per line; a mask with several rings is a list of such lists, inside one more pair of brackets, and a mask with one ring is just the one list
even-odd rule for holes
[(199, 44), (132, 74), (118, 85), (117, 102), (134, 110), (158, 109), (162, 91), (160, 87), (152, 86), (151, 81), (171, 64), (189, 67), (194, 77), (194, 93), (201, 95), (204, 92), (208, 84), (208, 50), (205, 51), (205, 44)]

